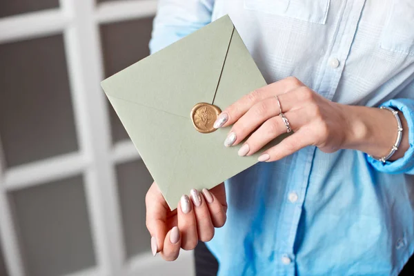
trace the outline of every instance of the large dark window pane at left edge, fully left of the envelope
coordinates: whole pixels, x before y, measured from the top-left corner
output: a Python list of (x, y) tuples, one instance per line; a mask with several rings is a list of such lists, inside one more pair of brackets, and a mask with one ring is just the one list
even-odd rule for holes
[(0, 45), (7, 166), (78, 149), (62, 35)]

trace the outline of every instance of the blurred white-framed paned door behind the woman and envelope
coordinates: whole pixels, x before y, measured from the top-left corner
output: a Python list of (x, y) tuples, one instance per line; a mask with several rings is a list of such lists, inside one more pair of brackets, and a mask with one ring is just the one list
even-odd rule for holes
[(0, 0), (1, 276), (194, 275), (150, 254), (152, 179), (99, 86), (149, 55), (156, 9)]

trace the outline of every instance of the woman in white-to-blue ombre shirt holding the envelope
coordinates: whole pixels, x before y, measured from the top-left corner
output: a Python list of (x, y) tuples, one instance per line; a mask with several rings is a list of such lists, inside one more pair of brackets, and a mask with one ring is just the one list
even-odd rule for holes
[(153, 253), (212, 239), (219, 275), (400, 273), (414, 251), (412, 0), (161, 0), (150, 48), (224, 14), (270, 83), (221, 113), (225, 146), (243, 158), (294, 133), (176, 212), (152, 184)]

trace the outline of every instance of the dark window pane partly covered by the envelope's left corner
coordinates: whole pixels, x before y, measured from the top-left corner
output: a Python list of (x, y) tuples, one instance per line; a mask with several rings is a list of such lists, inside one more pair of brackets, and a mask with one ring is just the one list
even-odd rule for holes
[[(103, 63), (106, 77), (150, 55), (152, 17), (101, 26)], [(109, 105), (110, 106), (110, 105)], [(112, 140), (129, 139), (115, 111), (110, 106)]]

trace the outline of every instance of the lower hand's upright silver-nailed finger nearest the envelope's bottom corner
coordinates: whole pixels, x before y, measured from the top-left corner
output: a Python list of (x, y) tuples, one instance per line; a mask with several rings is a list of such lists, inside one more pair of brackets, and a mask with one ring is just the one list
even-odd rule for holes
[(183, 195), (177, 208), (178, 228), (181, 231), (181, 248), (193, 250), (198, 243), (194, 206), (188, 195)]

